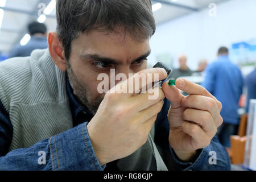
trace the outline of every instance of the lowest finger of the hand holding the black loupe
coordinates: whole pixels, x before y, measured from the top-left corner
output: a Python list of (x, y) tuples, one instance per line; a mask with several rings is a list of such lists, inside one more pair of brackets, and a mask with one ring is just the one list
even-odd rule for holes
[(137, 123), (137, 124), (141, 124), (144, 122), (147, 122), (148, 119), (154, 117), (155, 115), (158, 115), (158, 113), (160, 113), (160, 111), (162, 110), (163, 107), (163, 100), (157, 102), (156, 104), (148, 107), (147, 109), (144, 109), (142, 111), (140, 111), (136, 116), (133, 122)]

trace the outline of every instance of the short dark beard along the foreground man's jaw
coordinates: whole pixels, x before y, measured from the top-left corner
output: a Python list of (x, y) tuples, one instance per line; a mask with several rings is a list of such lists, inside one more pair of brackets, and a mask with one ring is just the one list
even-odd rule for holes
[(97, 96), (93, 101), (91, 99), (90, 94), (87, 92), (88, 89), (87, 86), (82, 85), (79, 78), (77, 78), (75, 72), (71, 68), (71, 65), (66, 60), (66, 67), (67, 67), (67, 73), (69, 82), (71, 85), (71, 88), (73, 89), (73, 94), (76, 98), (76, 100), (84, 106), (86, 109), (88, 109), (93, 115), (96, 114), (98, 107), (100, 106), (102, 100), (104, 99), (104, 96), (100, 95)]

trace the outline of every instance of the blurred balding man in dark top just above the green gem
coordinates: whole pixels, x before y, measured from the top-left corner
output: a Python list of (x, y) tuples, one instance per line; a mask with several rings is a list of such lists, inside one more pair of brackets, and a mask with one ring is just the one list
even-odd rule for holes
[(180, 55), (179, 56), (179, 64), (180, 68), (174, 69), (172, 71), (172, 77), (177, 79), (182, 76), (191, 76), (193, 71), (188, 68), (187, 65), (187, 56), (185, 55)]

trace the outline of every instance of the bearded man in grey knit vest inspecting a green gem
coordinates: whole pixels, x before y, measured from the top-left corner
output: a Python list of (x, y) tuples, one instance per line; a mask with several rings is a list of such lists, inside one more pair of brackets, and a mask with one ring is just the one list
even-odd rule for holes
[(118, 93), (132, 76), (98, 93), (98, 75), (111, 68), (167, 77), (162, 68), (145, 69), (155, 32), (151, 1), (59, 0), (56, 17), (48, 50), (0, 65), (0, 169), (156, 170), (150, 133), (170, 170), (230, 169), (214, 137), (221, 104), (200, 85), (177, 80), (188, 97), (167, 82), (152, 89), (154, 100), (148, 92)]

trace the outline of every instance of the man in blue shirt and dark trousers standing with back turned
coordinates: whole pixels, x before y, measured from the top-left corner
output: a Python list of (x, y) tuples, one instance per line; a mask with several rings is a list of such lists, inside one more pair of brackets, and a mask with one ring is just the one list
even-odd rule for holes
[(230, 135), (236, 133), (239, 124), (238, 102), (242, 94), (243, 78), (240, 69), (228, 57), (226, 47), (218, 49), (218, 59), (207, 67), (201, 84), (222, 103), (223, 125), (218, 128), (218, 137), (225, 147), (230, 147)]

